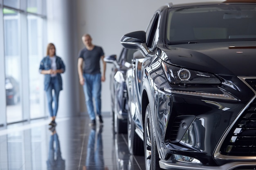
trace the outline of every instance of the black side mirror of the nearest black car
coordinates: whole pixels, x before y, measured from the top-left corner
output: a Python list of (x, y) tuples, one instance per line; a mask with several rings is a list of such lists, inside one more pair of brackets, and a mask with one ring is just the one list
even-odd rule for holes
[(141, 50), (145, 55), (149, 53), (148, 47), (146, 45), (145, 31), (127, 33), (122, 36), (120, 42), (126, 49)]

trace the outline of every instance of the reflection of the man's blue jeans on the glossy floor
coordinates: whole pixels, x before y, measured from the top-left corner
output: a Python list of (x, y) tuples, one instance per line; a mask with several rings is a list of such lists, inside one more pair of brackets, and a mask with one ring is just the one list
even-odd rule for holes
[[(103, 146), (101, 137), (102, 128), (103, 126), (100, 126), (99, 131), (97, 133), (95, 132), (94, 127), (92, 127), (90, 131), (90, 136), (87, 145), (86, 163), (85, 166), (83, 166), (83, 170), (108, 170), (107, 167), (104, 168)], [(97, 143), (95, 149), (94, 146), (96, 135)]]

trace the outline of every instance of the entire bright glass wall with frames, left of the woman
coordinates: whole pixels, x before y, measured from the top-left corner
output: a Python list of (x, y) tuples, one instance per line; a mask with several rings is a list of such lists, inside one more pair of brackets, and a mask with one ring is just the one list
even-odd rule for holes
[(6, 113), (0, 117), (6, 114), (7, 124), (47, 116), (43, 76), (38, 72), (46, 46), (45, 7), (44, 0), (3, 0), (4, 73), (0, 76), (5, 77), (6, 94), (0, 97), (6, 98)]

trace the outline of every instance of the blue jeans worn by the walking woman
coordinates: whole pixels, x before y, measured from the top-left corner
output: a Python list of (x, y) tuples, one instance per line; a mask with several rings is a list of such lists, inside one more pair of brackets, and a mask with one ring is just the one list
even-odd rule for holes
[[(54, 96), (52, 96), (52, 90), (54, 90)], [(47, 102), (49, 113), (51, 117), (56, 117), (58, 111), (58, 96), (60, 94), (60, 86), (57, 77), (51, 77), (51, 83), (46, 91)], [(54, 101), (54, 109), (52, 107), (52, 102)]]

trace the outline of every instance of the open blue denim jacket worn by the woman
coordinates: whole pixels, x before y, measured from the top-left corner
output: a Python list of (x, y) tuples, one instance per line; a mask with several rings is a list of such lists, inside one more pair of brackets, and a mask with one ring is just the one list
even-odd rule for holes
[[(61, 60), (61, 57), (56, 56), (56, 67), (57, 67), (57, 70), (61, 69), (61, 70), (63, 70), (63, 73), (65, 72), (65, 64)], [(51, 59), (48, 55), (48, 56), (44, 57), (43, 60), (40, 62), (39, 73), (41, 73), (42, 70), (49, 70), (49, 69), (51, 69)], [(59, 90), (61, 91), (63, 89), (61, 74), (57, 73), (56, 76), (57, 76), (59, 87), (60, 87)], [(45, 91), (49, 87), (50, 82), (51, 82), (51, 75), (45, 74), (45, 79), (44, 79), (44, 90)]]

